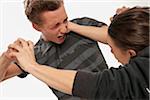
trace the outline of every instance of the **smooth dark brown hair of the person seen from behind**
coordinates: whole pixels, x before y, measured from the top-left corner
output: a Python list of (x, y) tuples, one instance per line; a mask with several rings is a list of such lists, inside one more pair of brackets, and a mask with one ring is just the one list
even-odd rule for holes
[(114, 17), (108, 34), (123, 50), (149, 46), (149, 7), (134, 7)]

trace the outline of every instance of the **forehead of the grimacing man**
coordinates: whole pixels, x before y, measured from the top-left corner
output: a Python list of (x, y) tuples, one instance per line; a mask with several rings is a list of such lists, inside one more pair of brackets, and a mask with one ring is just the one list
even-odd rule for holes
[(42, 21), (44, 24), (46, 23), (59, 23), (61, 21), (64, 21), (64, 19), (67, 18), (67, 14), (65, 11), (64, 6), (62, 5), (59, 9), (55, 11), (45, 11), (41, 14)]

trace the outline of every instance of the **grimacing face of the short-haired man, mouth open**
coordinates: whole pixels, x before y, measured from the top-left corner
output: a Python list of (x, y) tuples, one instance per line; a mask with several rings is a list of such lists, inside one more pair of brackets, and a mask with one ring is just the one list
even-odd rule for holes
[(64, 42), (67, 33), (67, 14), (62, 5), (55, 11), (46, 11), (41, 14), (43, 24), (38, 26), (45, 41), (57, 44)]

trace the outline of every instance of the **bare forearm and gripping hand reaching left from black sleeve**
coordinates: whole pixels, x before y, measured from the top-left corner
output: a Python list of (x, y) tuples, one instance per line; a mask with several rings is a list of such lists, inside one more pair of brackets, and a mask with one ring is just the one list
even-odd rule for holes
[(12, 57), (16, 57), (20, 67), (47, 85), (59, 91), (72, 94), (76, 71), (58, 70), (50, 66), (37, 64), (34, 56), (34, 45), (31, 42), (21, 41), (22, 47), (16, 44), (10, 45), (10, 48), (16, 49), (16, 51), (9, 54)]

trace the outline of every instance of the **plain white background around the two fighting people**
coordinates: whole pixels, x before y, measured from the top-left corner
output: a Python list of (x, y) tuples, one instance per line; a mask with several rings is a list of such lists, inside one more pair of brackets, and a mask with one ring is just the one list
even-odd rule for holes
[[(148, 6), (148, 0), (65, 0), (69, 19), (91, 17), (109, 25), (110, 16), (122, 6)], [(18, 37), (36, 42), (40, 33), (35, 31), (24, 14), (23, 0), (0, 0), (0, 54)], [(118, 66), (110, 48), (100, 48), (111, 66)], [(28, 75), (14, 77), (0, 83), (0, 100), (57, 100), (52, 91), (41, 81)]]

